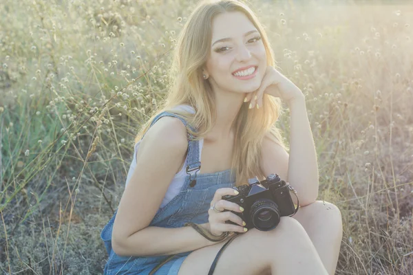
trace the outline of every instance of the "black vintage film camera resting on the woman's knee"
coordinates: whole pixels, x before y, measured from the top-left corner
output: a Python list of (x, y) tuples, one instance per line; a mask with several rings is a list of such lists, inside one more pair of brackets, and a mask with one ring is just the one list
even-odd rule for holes
[[(240, 216), (248, 229), (272, 230), (278, 225), (281, 217), (291, 216), (298, 210), (290, 195), (290, 191), (296, 193), (294, 188), (281, 180), (277, 174), (271, 174), (261, 182), (254, 177), (248, 179), (248, 185), (233, 188), (240, 194), (226, 195), (222, 199), (244, 208), (244, 212), (231, 212)], [(232, 221), (226, 223), (237, 224)]]

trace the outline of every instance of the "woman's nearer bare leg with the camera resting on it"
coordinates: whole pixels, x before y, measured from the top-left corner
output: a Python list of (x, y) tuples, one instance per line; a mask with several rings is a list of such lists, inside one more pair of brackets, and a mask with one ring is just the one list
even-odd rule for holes
[[(224, 242), (195, 250), (184, 260), (179, 275), (204, 275)], [(317, 250), (302, 225), (282, 217), (277, 228), (263, 232), (255, 228), (237, 236), (224, 250), (214, 275), (264, 274), (326, 275)]]

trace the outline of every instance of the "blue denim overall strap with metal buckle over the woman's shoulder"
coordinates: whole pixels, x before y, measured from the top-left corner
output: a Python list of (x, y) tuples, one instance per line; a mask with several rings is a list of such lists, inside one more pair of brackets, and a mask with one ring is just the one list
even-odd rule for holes
[[(157, 122), (160, 118), (164, 116), (172, 116), (174, 118), (178, 118), (179, 120), (182, 121), (182, 123), (187, 126), (187, 128), (191, 129), (191, 131), (195, 131), (193, 127), (186, 121), (184, 118), (180, 117), (176, 113), (169, 113), (167, 111), (163, 111), (162, 113), (159, 113), (156, 115), (155, 118), (153, 118), (151, 127), (155, 122)], [(144, 134), (145, 136), (145, 134)], [(142, 136), (143, 138), (143, 136)], [(199, 141), (198, 140), (193, 140), (193, 135), (188, 132), (188, 153), (187, 153), (187, 168), (186, 172), (189, 175), (189, 181), (190, 184), (189, 186), (193, 187), (196, 184), (196, 173), (200, 170), (201, 168), (201, 162), (200, 162), (200, 146), (199, 146)], [(195, 171), (195, 177), (192, 177), (191, 172)]]

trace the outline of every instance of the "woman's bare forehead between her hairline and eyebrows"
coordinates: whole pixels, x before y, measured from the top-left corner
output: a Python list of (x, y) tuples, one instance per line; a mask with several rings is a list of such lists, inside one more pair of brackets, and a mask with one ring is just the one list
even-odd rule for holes
[(212, 41), (227, 37), (243, 36), (249, 30), (257, 30), (242, 12), (218, 14), (212, 21)]

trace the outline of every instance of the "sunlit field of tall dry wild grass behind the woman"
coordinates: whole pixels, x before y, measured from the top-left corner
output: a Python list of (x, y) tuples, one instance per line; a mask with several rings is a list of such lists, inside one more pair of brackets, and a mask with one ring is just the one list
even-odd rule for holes
[[(302, 3), (301, 3), (302, 2)], [(100, 230), (194, 1), (0, 2), (0, 268), (102, 274)], [(305, 5), (303, 4), (305, 3)], [(336, 274), (413, 271), (413, 2), (251, 1), (306, 94)], [(288, 112), (286, 112), (288, 113)], [(288, 141), (288, 116), (278, 122)]]

